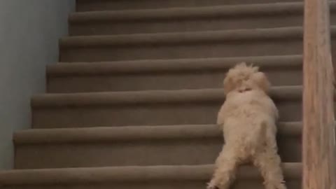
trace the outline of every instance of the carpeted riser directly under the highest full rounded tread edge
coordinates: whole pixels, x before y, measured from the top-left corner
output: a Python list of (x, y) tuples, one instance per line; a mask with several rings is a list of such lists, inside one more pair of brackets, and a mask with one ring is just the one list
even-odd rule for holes
[[(336, 23), (335, 14), (330, 19)], [(335, 22), (333, 22), (335, 21)], [(70, 23), (72, 36), (110, 35), (110, 34), (144, 34), (174, 31), (211, 31), (221, 29), (253, 29), (268, 27), (302, 26), (302, 15), (260, 15), (237, 18), (195, 18), (174, 20), (136, 20), (136, 21), (95, 21)], [(200, 27), (202, 26), (202, 27)]]

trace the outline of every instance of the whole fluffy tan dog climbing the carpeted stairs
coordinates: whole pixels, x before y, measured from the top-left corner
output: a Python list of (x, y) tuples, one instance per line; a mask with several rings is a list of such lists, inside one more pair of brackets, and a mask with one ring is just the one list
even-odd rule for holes
[(218, 113), (225, 146), (216, 160), (208, 189), (228, 189), (237, 166), (253, 162), (260, 169), (266, 189), (286, 189), (277, 154), (278, 110), (268, 96), (270, 83), (258, 67), (237, 64), (224, 79), (226, 100)]

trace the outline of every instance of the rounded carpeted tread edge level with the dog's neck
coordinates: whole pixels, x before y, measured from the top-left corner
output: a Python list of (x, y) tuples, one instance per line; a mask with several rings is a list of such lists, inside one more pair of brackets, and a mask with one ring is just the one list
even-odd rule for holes
[[(302, 86), (272, 87), (273, 99), (300, 99)], [(111, 104), (141, 104), (169, 102), (214, 102), (224, 99), (223, 89), (146, 90), (131, 92), (80, 92), (63, 94), (36, 94), (31, 99), (33, 107), (105, 106)]]

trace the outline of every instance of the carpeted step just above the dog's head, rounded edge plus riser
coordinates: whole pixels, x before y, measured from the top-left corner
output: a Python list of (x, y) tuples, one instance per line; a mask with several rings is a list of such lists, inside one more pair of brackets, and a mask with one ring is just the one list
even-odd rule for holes
[[(335, 43), (336, 27), (330, 29)], [(61, 62), (297, 55), (302, 27), (72, 36), (59, 45)]]

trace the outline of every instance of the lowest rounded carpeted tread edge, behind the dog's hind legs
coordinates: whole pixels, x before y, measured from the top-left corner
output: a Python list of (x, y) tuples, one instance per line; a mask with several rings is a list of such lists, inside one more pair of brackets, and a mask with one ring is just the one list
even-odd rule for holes
[[(283, 163), (285, 177), (287, 179), (300, 179), (301, 167), (301, 163)], [(25, 169), (0, 172), (0, 183), (3, 185), (24, 185), (107, 181), (193, 181), (209, 179), (213, 169), (213, 165)], [(260, 179), (260, 174), (257, 169), (251, 166), (242, 166), (239, 169), (238, 177), (241, 179)]]

